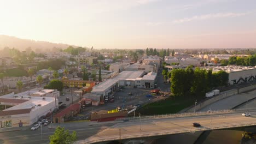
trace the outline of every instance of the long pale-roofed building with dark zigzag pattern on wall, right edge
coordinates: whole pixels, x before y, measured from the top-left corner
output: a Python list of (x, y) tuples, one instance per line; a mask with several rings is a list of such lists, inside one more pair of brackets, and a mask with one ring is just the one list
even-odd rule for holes
[(212, 69), (213, 72), (220, 70), (226, 71), (229, 74), (229, 84), (235, 85), (238, 83), (249, 82), (256, 80), (256, 67), (243, 67), (237, 65), (219, 66), (219, 67), (204, 67)]

